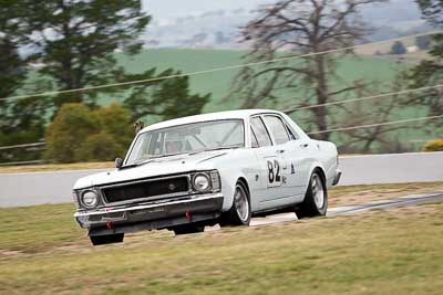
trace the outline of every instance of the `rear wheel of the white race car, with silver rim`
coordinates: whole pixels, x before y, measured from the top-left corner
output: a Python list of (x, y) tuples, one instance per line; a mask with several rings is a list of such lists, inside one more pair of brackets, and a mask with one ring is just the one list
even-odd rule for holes
[[(317, 187), (317, 189), (315, 187)], [(316, 194), (316, 193), (321, 193), (319, 191), (320, 189), (322, 191), (322, 200), (323, 200), (322, 203), (320, 202), (320, 196)], [(296, 214), (298, 219), (323, 217), (326, 215), (327, 210), (328, 210), (328, 190), (319, 170), (315, 170), (311, 175), (311, 178), (309, 179), (309, 185), (305, 194), (303, 202), (296, 207)]]

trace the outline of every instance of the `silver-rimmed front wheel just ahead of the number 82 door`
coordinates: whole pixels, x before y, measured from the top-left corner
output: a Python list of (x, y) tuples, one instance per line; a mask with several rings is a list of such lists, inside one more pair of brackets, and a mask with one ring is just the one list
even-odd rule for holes
[(222, 214), (219, 224), (220, 226), (249, 225), (250, 217), (250, 197), (248, 190), (243, 182), (237, 182), (234, 192), (233, 207), (229, 211)]

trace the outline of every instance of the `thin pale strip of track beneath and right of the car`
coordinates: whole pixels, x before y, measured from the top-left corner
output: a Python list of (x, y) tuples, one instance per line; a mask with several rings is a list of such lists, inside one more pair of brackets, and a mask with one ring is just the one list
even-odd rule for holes
[[(328, 209), (327, 217), (349, 215), (377, 209), (389, 210), (401, 207), (413, 207), (426, 203), (442, 203), (442, 202), (443, 202), (443, 191), (435, 193), (425, 193), (425, 194), (410, 194), (385, 201), (374, 201), (356, 206), (330, 208)], [(269, 215), (266, 218), (255, 218), (251, 220), (250, 225), (258, 226), (258, 225), (274, 224), (293, 220), (297, 220), (297, 215), (295, 213), (285, 213), (285, 214)]]

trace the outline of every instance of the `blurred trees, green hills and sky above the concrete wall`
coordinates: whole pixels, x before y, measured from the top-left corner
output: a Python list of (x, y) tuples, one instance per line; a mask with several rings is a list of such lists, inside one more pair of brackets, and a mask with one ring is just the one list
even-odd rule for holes
[(133, 124), (286, 112), (342, 154), (443, 150), (439, 0), (0, 0), (0, 165), (111, 161)]

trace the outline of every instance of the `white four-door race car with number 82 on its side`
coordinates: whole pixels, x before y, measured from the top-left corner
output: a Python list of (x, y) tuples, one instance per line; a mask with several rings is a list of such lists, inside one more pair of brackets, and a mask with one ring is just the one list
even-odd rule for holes
[(81, 178), (75, 220), (92, 244), (124, 233), (248, 225), (251, 215), (324, 215), (338, 183), (337, 147), (310, 139), (287, 115), (245, 109), (197, 115), (141, 130), (116, 169)]

